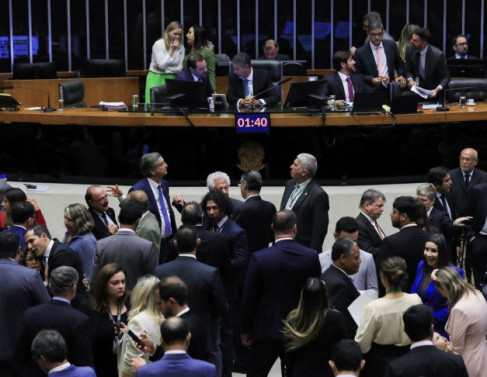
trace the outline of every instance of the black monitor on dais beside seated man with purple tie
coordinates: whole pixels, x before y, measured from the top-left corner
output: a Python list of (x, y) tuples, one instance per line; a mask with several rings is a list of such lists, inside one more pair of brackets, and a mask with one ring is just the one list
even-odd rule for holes
[(316, 107), (318, 103), (324, 104), (327, 85), (326, 80), (293, 82), (284, 107)]

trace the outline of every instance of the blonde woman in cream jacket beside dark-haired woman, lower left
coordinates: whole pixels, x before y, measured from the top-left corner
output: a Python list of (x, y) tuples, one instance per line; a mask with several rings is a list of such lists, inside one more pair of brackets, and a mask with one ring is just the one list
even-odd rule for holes
[[(160, 325), (164, 321), (164, 316), (159, 311), (159, 302), (159, 279), (152, 275), (139, 278), (130, 295), (132, 309), (128, 316), (127, 331), (132, 330), (137, 336), (142, 332), (147, 334), (156, 346), (160, 345)], [(132, 359), (136, 357), (141, 357), (146, 362), (149, 360), (149, 354), (138, 349), (134, 340), (126, 332), (117, 350), (120, 377), (135, 375), (130, 367)]]

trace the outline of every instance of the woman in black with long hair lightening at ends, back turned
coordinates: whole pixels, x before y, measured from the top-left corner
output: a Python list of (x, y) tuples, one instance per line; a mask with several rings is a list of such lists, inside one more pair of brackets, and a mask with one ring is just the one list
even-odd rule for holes
[(325, 284), (308, 278), (298, 307), (284, 321), (288, 371), (292, 377), (332, 377), (328, 365), (333, 345), (346, 334), (342, 314), (330, 307)]

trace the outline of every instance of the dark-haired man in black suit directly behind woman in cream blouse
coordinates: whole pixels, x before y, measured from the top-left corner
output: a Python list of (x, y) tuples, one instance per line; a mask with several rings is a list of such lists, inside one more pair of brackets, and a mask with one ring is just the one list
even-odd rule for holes
[[(418, 263), (423, 259), (424, 245), (428, 240), (428, 233), (417, 224), (424, 209), (423, 203), (412, 196), (400, 196), (392, 204), (391, 222), (399, 232), (384, 238), (377, 254), (377, 267), (380, 263), (393, 256), (399, 256), (406, 261), (409, 282), (404, 292), (411, 291)], [(384, 289), (379, 287), (379, 295), (384, 295)]]

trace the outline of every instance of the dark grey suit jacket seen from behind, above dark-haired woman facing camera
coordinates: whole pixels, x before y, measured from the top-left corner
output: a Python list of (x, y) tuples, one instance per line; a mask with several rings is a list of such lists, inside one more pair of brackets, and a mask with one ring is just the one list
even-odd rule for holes
[(131, 291), (139, 277), (154, 272), (157, 266), (157, 249), (152, 242), (121, 229), (97, 243), (92, 282), (96, 280), (102, 267), (109, 263), (118, 263), (123, 267), (127, 290)]

